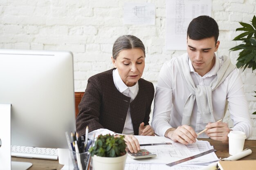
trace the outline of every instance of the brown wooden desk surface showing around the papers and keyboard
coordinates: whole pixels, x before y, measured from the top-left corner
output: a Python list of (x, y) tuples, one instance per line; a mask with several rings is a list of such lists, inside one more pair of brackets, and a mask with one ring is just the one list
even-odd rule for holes
[[(198, 138), (198, 140), (209, 141), (210, 144), (214, 146), (214, 149), (217, 150), (215, 152), (217, 157), (226, 158), (230, 156), (228, 144), (222, 144), (220, 141), (214, 141), (212, 139), (206, 139), (206, 138)], [(244, 148), (248, 148), (248, 147), (252, 150), (252, 154), (240, 160), (256, 159), (256, 140), (245, 140)], [(60, 170), (63, 167), (63, 165), (59, 164), (58, 161), (51, 161), (51, 160), (25, 159), (25, 158), (17, 158), (17, 157), (11, 157), (11, 160), (33, 163), (33, 166), (31, 166), (29, 170), (53, 170), (53, 169)]]

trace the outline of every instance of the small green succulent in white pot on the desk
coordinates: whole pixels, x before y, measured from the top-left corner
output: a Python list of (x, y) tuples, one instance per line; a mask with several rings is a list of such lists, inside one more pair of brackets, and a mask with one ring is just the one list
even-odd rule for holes
[(89, 152), (94, 170), (124, 170), (127, 153), (123, 135), (99, 135)]

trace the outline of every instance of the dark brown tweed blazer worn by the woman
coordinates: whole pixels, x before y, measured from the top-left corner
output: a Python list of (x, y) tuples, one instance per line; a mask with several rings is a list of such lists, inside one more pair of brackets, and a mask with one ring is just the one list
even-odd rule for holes
[[(113, 68), (115, 69), (115, 68)], [(130, 97), (120, 93), (115, 87), (112, 71), (94, 75), (88, 79), (85, 94), (78, 106), (76, 117), (76, 131), (85, 135), (86, 126), (89, 132), (99, 128), (106, 128), (122, 133), (130, 105), (134, 134), (139, 133), (139, 124), (148, 125), (151, 104), (155, 89), (151, 82), (139, 79), (139, 91), (130, 103)]]

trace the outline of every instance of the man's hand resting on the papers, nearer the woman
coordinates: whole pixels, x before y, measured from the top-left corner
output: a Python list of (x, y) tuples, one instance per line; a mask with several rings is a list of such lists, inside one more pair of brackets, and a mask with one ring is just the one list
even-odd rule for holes
[(178, 126), (177, 129), (170, 128), (166, 130), (164, 136), (185, 145), (195, 143), (197, 138), (195, 130), (188, 125)]

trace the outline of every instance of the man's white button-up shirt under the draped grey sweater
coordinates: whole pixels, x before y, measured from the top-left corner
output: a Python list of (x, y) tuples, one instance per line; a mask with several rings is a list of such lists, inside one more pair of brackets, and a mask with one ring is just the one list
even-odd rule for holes
[[(184, 54), (187, 55), (187, 54)], [(159, 73), (156, 86), (152, 127), (155, 133), (164, 136), (169, 128), (177, 128), (182, 124), (182, 110), (186, 99), (190, 95), (186, 87), (185, 80), (182, 79), (178, 66), (173, 64), (173, 58), (164, 63)], [(209, 86), (211, 81), (217, 76), (217, 72), (222, 65), (222, 60), (216, 57), (213, 68), (204, 76), (195, 72), (191, 61), (188, 61), (190, 74), (195, 86)], [(247, 138), (252, 134), (252, 122), (249, 117), (249, 109), (245, 97), (243, 82), (236, 68), (228, 77), (212, 91), (213, 116), (216, 121), (224, 117), (226, 99), (229, 102), (229, 112), (233, 120), (233, 130), (240, 130), (246, 133)], [(194, 104), (191, 114), (191, 127), (196, 133), (204, 130), (207, 124), (203, 123), (198, 112), (198, 106)], [(208, 137), (202, 133), (199, 137)]]

